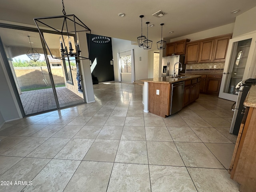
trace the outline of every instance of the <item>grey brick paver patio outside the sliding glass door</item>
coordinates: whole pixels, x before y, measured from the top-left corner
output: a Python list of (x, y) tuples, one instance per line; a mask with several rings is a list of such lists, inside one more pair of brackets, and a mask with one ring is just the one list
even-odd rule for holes
[[(56, 92), (60, 107), (84, 102), (66, 87), (56, 87)], [(20, 100), (26, 115), (56, 108), (52, 88), (22, 92)]]

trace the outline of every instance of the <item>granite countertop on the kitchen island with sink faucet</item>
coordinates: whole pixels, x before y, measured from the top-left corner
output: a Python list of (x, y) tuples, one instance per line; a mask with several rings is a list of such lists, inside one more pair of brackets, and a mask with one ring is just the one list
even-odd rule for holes
[[(160, 78), (141, 79), (140, 81), (142, 81), (142, 82), (150, 82), (150, 83), (172, 84), (172, 83), (176, 83), (176, 82), (181, 82), (181, 81), (185, 81), (185, 80), (190, 80), (190, 79), (198, 78), (198, 77), (201, 77), (201, 75), (187, 75), (186, 77), (188, 77), (188, 78), (160, 77)], [(134, 83), (136, 83), (136, 81)]]

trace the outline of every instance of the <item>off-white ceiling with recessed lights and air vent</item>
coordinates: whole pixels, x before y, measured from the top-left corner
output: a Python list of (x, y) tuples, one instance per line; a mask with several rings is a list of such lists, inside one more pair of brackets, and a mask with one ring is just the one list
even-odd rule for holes
[[(148, 29), (148, 38), (154, 43), (160, 40), (161, 23), (164, 38), (177, 38), (234, 23), (236, 16), (256, 6), (256, 0), (64, 0), (64, 6), (66, 14), (75, 14), (92, 34), (131, 41), (141, 35), (139, 16), (144, 15), (143, 35), (145, 23), (154, 24)], [(230, 13), (237, 9), (240, 12)], [(152, 16), (159, 10), (166, 14)], [(121, 12), (124, 17), (118, 16)], [(34, 25), (33, 18), (56, 15), (62, 15), (61, 0), (1, 1), (1, 20)]]

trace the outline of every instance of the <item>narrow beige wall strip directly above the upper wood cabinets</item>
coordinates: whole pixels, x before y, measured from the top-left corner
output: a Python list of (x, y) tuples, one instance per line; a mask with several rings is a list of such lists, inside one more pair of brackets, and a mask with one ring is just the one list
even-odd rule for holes
[(212, 28), (209, 30), (189, 34), (186, 36), (181, 36), (178, 38), (171, 39), (170, 42), (174, 42), (182, 39), (190, 39), (190, 41), (196, 41), (196, 40), (210, 38), (214, 36), (229, 34), (233, 32), (234, 25), (235, 25), (234, 23), (231, 23), (231, 24), (220, 26), (220, 27)]

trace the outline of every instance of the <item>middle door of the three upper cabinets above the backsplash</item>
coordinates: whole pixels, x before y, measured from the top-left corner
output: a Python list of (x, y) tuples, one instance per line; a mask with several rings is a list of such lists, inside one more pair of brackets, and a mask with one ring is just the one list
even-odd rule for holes
[(200, 42), (200, 51), (198, 62), (211, 62), (214, 39), (204, 40)]

